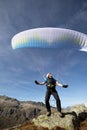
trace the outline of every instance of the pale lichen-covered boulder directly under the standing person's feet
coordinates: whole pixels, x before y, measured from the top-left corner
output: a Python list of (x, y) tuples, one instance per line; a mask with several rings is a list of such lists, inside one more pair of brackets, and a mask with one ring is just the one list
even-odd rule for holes
[(74, 130), (75, 126), (73, 121), (75, 121), (73, 115), (65, 115), (64, 118), (59, 117), (57, 113), (52, 114), (50, 117), (46, 115), (41, 115), (36, 119), (33, 119), (33, 122), (36, 126), (47, 127), (48, 129), (53, 129), (55, 126), (60, 126), (61, 128)]

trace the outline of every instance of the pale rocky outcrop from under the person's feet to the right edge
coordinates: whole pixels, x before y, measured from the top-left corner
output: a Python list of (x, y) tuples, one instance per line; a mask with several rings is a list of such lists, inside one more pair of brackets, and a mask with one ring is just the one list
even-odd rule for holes
[(76, 105), (70, 110), (63, 110), (64, 117), (59, 117), (58, 113), (53, 113), (50, 117), (40, 115), (33, 122), (36, 126), (53, 129), (55, 126), (60, 126), (65, 130), (79, 129), (80, 122), (87, 118), (87, 107), (85, 105)]

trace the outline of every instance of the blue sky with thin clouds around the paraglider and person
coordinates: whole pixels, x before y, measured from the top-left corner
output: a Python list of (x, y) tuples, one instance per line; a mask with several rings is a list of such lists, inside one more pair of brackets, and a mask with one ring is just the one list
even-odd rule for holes
[[(69, 49), (12, 49), (12, 37), (28, 29), (56, 27), (87, 34), (86, 0), (0, 0), (0, 95), (44, 102), (48, 72), (68, 88), (56, 86), (62, 107), (87, 103), (87, 52)], [(51, 105), (55, 106), (53, 97)]]

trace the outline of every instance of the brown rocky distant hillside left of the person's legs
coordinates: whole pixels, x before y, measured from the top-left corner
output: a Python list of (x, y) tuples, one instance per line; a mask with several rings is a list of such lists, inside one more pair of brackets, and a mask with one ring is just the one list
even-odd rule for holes
[(30, 121), (45, 113), (42, 102), (18, 101), (7, 96), (0, 96), (0, 130)]

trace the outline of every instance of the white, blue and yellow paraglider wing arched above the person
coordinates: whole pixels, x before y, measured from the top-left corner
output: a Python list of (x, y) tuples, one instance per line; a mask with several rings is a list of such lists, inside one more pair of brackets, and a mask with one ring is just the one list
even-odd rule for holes
[[(72, 41), (79, 50), (87, 51), (87, 35), (64, 28), (36, 28), (16, 34), (12, 48), (59, 48), (64, 42)], [(67, 44), (66, 44), (67, 46)]]

